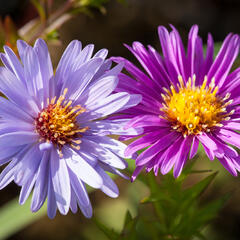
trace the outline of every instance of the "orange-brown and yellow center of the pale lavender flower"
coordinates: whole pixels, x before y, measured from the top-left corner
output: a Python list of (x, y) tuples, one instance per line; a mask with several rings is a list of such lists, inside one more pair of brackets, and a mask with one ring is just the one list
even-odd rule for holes
[[(56, 97), (48, 99), (48, 106), (44, 108), (35, 119), (36, 131), (40, 135), (40, 141), (52, 142), (59, 147), (60, 152), (65, 144), (79, 150), (81, 140), (80, 133), (85, 132), (88, 127), (80, 128), (76, 118), (86, 111), (80, 105), (71, 106), (72, 101), (64, 101), (67, 88), (56, 101)], [(63, 102), (64, 101), (64, 102)]]

